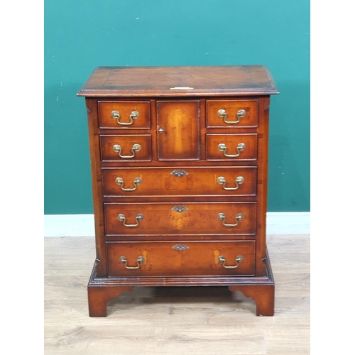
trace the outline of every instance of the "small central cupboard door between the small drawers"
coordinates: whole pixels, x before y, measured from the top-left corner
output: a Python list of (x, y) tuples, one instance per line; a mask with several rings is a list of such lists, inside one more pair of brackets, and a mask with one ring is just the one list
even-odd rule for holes
[(199, 160), (199, 104), (197, 100), (158, 101), (159, 160)]

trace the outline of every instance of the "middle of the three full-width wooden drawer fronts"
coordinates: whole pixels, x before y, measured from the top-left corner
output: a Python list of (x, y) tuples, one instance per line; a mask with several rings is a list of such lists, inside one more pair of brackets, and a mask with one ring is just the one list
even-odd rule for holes
[(256, 202), (107, 203), (107, 236), (255, 234)]

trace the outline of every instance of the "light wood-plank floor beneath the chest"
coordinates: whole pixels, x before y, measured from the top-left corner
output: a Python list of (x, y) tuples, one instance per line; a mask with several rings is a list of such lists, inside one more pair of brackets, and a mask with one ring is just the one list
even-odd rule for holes
[(90, 318), (93, 237), (45, 238), (45, 354), (310, 354), (310, 236), (268, 236), (275, 316), (226, 288), (134, 288)]

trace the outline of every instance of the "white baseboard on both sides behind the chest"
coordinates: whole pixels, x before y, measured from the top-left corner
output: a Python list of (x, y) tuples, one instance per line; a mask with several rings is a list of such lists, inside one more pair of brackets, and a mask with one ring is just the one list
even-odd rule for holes
[[(45, 214), (44, 236), (94, 236), (94, 214)], [(310, 212), (268, 212), (266, 234), (310, 234)]]

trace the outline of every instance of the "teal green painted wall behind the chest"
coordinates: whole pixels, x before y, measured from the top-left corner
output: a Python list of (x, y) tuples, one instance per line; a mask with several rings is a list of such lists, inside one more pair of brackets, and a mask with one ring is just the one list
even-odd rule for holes
[(92, 213), (84, 98), (105, 65), (266, 65), (268, 211), (310, 211), (310, 1), (45, 1), (45, 214)]

